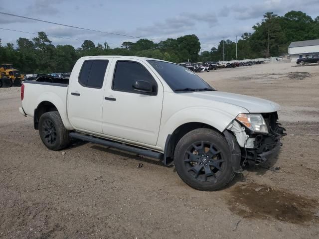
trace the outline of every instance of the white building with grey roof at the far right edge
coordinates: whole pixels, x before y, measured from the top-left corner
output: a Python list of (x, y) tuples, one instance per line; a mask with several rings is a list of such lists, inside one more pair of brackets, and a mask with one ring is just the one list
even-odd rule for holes
[(305, 58), (307, 55), (319, 54), (319, 39), (309, 41), (293, 41), (288, 47), (291, 61), (295, 62), (299, 58)]

